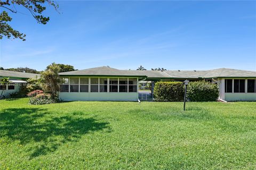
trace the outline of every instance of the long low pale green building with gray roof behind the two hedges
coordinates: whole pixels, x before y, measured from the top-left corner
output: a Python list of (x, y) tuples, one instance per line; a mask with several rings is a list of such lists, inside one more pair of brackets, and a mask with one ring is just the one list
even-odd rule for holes
[[(219, 98), (227, 101), (256, 101), (256, 72), (235, 69), (208, 71), (118, 70), (110, 67), (63, 72), (62, 100), (138, 100), (139, 81), (197, 81), (218, 83)], [(154, 87), (154, 85), (153, 85)]]

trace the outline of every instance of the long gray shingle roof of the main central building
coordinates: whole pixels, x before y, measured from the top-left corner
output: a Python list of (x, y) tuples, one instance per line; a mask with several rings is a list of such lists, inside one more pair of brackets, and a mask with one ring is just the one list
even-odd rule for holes
[(118, 70), (107, 66), (95, 67), (92, 69), (63, 72), (60, 75), (89, 75), (89, 76), (132, 76), (148, 78), (225, 78), (225, 77), (253, 77), (256, 78), (255, 71), (235, 70), (235, 69), (215, 69), (207, 71), (154, 71), (154, 70)]

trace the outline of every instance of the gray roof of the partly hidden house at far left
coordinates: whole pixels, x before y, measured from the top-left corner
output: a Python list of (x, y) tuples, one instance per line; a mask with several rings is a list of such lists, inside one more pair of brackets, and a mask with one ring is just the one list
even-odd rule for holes
[(0, 70), (1, 77), (13, 77), (13, 78), (36, 78), (40, 77), (40, 74), (23, 73), (17, 71)]

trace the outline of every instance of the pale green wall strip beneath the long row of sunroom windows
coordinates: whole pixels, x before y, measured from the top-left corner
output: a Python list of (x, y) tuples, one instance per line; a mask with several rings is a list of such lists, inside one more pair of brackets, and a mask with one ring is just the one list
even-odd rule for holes
[(137, 101), (137, 92), (60, 92), (59, 98), (64, 101)]

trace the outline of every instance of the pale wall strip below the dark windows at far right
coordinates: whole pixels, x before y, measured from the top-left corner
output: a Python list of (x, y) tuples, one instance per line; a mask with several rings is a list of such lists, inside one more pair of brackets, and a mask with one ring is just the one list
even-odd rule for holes
[(256, 93), (225, 93), (226, 101), (256, 101)]

